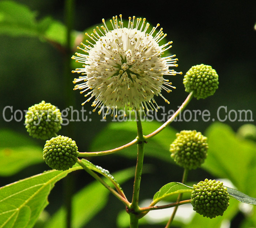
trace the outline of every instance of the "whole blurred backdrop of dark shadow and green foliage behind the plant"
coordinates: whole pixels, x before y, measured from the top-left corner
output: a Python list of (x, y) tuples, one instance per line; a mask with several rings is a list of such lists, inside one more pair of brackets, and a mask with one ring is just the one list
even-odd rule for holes
[[(155, 7), (148, 3), (137, 2), (136, 7), (131, 8), (123, 7), (122, 3), (109, 6), (106, 2), (95, 6), (93, 2), (84, 3), (78, 0), (75, 5), (74, 30), (71, 31), (70, 48), (75, 52), (76, 46), (84, 40), (81, 31), (90, 32), (95, 27), (92, 25), (100, 23), (102, 17), (107, 19), (119, 13), (123, 14), (123, 18), (133, 15), (146, 17), (152, 25), (160, 23), (163, 31), (168, 35), (167, 38), (173, 40), (171, 51), (179, 58), (178, 71), (185, 74), (191, 66), (200, 63), (210, 64), (217, 70), (219, 89), (214, 96), (200, 101), (195, 99), (188, 105), (189, 110), (209, 110), (210, 121), (203, 121), (198, 116), (197, 121), (173, 122), (172, 126), (176, 130), (168, 127), (146, 144), (145, 162), (151, 164), (152, 172), (143, 174), (140, 196), (142, 199), (153, 199), (161, 186), (170, 181), (181, 181), (182, 169), (175, 166), (170, 159), (169, 145), (177, 131), (196, 129), (205, 132), (210, 149), (206, 163), (201, 169), (191, 171), (188, 181), (198, 182), (206, 177), (227, 178), (242, 192), (256, 197), (256, 144), (252, 140), (242, 139), (241, 135), (240, 137), (236, 135), (233, 129), (237, 130), (247, 122), (238, 121), (234, 116), (235, 112), (230, 112), (230, 110), (251, 110), (251, 119), (253, 119), (251, 123), (254, 124), (256, 32), (253, 26), (256, 18), (253, 9), (256, 3), (251, 1), (238, 4), (231, 0), (222, 1), (220, 4), (194, 1), (185, 4), (165, 1), (162, 3), (170, 11), (162, 12), (156, 18)], [(158, 5), (161, 5), (161, 1), (158, 1)], [(0, 1), (1, 186), (48, 169), (43, 164), (43, 160), (40, 160), (42, 156), (40, 148), (43, 147), (44, 142), (28, 137), (23, 124), (25, 120), (23, 110), (43, 99), (58, 106), (60, 110), (67, 108), (67, 101), (64, 98), (66, 82), (63, 77), (67, 43), (64, 15), (64, 1)], [(77, 66), (74, 62), (71, 64), (72, 67)], [(70, 84), (68, 84), (70, 90), (73, 87), (74, 77), (75, 75), (70, 75)], [(187, 95), (182, 84), (182, 76), (170, 80), (177, 89), (169, 94), (171, 105), (165, 107), (165, 111), (176, 110)], [(74, 109), (78, 107), (77, 109), (80, 110), (83, 97), (75, 93), (73, 99), (71, 103), (74, 103)], [(158, 104), (165, 105), (161, 100)], [(12, 109), (5, 109), (7, 106)], [(217, 110), (220, 106), (227, 107), (227, 113), (222, 109), (221, 119), (230, 114), (231, 120), (211, 124), (212, 118), (218, 120)], [(134, 122), (113, 123), (111, 118), (106, 122), (100, 121), (101, 116), (89, 113), (90, 104), (85, 105), (84, 109), (87, 110), (88, 116), (86, 122), (72, 121), (61, 129), (61, 134), (75, 139), (79, 151), (112, 149), (136, 137)], [(166, 120), (161, 110), (157, 116), (162, 121)], [(75, 113), (74, 119), (76, 117)], [(144, 122), (144, 134), (151, 133), (160, 125), (161, 123), (157, 122)], [(117, 154), (91, 158), (91, 160), (113, 172), (134, 166), (134, 158), (136, 158), (136, 148), (132, 146)], [(133, 182), (128, 179), (132, 174), (131, 171), (124, 170), (114, 175), (118, 181), (127, 181), (122, 187), (130, 198)], [(79, 181), (75, 186), (76, 193), (72, 204), (75, 210), (80, 209), (86, 213), (81, 219), (76, 211), (73, 212), (75, 213), (73, 218), (76, 219), (75, 227), (126, 227), (125, 221), (128, 220), (123, 219), (125, 215), (120, 213), (124, 209), (123, 205), (120, 205), (113, 196), (108, 196), (106, 189), (100, 188), (98, 183), (91, 182), (91, 178), (87, 176), (84, 178), (85, 173), (77, 171), (75, 175), (74, 178)], [(50, 204), (46, 208), (48, 212), (41, 217), (40, 223), (36, 224), (37, 227), (64, 223), (65, 215), (63, 207), (60, 206), (62, 203), (60, 192), (62, 192), (61, 184), (57, 182), (49, 196)], [(91, 194), (92, 197), (88, 198), (87, 195)], [(85, 198), (81, 200), (82, 197)], [(97, 209), (90, 208), (91, 201), (94, 201)], [(223, 221), (230, 220), (232, 228), (255, 227), (255, 208), (245, 213), (240, 211), (238, 204), (240, 204), (238, 201), (231, 200), (223, 217), (209, 220), (194, 213), (189, 225), (182, 225), (177, 221), (174, 224), (178, 227), (193, 228), (207, 223), (207, 228), (218, 228)], [(87, 205), (90, 207), (86, 208)], [(87, 214), (87, 210), (90, 213)], [(25, 215), (26, 209), (20, 213)], [(94, 217), (95, 215), (97, 216)], [(113, 217), (117, 217), (117, 222)], [(142, 223), (144, 225), (142, 224), (141, 227), (148, 227), (148, 220), (143, 218)], [(154, 224), (151, 227), (162, 226)]]

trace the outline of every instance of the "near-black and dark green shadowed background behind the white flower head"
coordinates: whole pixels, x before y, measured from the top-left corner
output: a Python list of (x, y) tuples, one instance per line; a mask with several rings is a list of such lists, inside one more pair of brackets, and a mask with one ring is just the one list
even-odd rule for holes
[[(51, 15), (54, 19), (64, 23), (64, 1), (59, 0), (19, 0), (19, 3), (27, 5), (33, 11), (37, 12), (37, 18)], [(227, 106), (227, 110), (251, 110), (253, 119), (255, 119), (256, 111), (256, 31), (254, 29), (256, 23), (256, 1), (76, 1), (74, 30), (84, 31), (87, 27), (101, 23), (101, 19), (108, 19), (114, 15), (123, 14), (123, 18), (128, 16), (146, 17), (151, 25), (160, 23), (163, 32), (167, 33), (167, 39), (173, 41), (171, 52), (176, 54), (178, 61), (177, 71), (182, 71), (183, 75), (189, 68), (196, 64), (211, 65), (219, 75), (219, 89), (214, 96), (204, 100), (197, 101), (193, 99), (188, 105), (190, 110), (207, 109), (211, 113), (211, 117), (217, 119), (217, 110), (220, 106)], [(65, 83), (64, 75), (64, 56), (54, 46), (49, 43), (42, 42), (36, 38), (12, 38), (0, 35), (0, 110), (5, 106), (13, 106), (15, 110), (26, 110), (31, 105), (39, 103), (42, 100), (51, 102), (63, 110), (67, 103), (72, 103), (74, 108), (80, 109), (80, 103), (84, 101), (82, 95), (77, 91), (73, 91), (72, 96), (65, 101)], [(77, 75), (70, 74), (70, 90), (73, 88), (72, 80)], [(164, 101), (157, 99), (158, 105), (165, 105), (166, 110), (176, 110), (187, 93), (184, 91), (182, 84), (183, 76), (172, 76), (170, 81), (177, 87), (172, 93), (166, 95), (171, 104), (166, 106)], [(90, 111), (91, 104), (88, 103), (84, 109)], [(224, 118), (224, 113), (222, 117)], [(89, 150), (90, 141), (95, 135), (111, 122), (111, 118), (107, 122), (101, 122), (97, 114), (91, 114), (92, 122), (71, 122), (69, 126), (63, 126), (60, 134), (68, 135), (75, 139), (79, 151)], [(232, 116), (232, 118), (234, 118)], [(202, 118), (198, 118), (198, 122), (173, 122), (172, 127), (180, 130), (196, 129), (204, 132), (204, 130), (212, 123), (204, 122)], [(23, 125), (23, 119), (20, 122), (5, 122), (3, 116), (0, 116), (0, 127), (10, 128), (19, 133), (26, 134)], [(248, 122), (225, 121), (233, 130)], [(250, 122), (255, 124), (255, 122)], [(38, 141), (39, 145), (44, 142)], [(99, 157), (94, 158), (95, 164), (104, 165), (112, 172), (125, 166), (135, 165), (135, 161), (127, 161), (125, 158)], [(146, 162), (155, 164), (155, 167), (161, 167), (160, 161), (154, 161), (146, 158)], [(166, 164), (165, 164), (166, 165)], [(25, 178), (33, 174), (48, 169), (45, 164), (33, 166), (30, 169), (23, 170), (19, 176), (11, 178), (3, 178), (2, 184), (8, 184), (19, 178)], [(146, 183), (154, 181), (156, 185), (162, 186), (166, 183), (166, 172), (175, 169), (168, 179), (180, 181), (182, 170), (179, 168), (167, 167), (163, 168), (160, 175), (146, 176), (142, 189), (148, 189)], [(174, 171), (174, 170), (173, 170)], [(191, 180), (197, 179), (202, 175), (203, 170), (193, 171)], [(170, 172), (174, 173), (174, 172)], [(79, 175), (76, 179), (79, 178)], [(210, 177), (211, 178), (211, 177)], [(177, 179), (177, 180), (176, 180)], [(88, 178), (88, 181), (92, 180)], [(130, 181), (124, 188), (131, 192)], [(82, 186), (76, 184), (77, 189)], [(59, 191), (61, 184), (57, 184), (55, 190), (50, 195), (50, 203), (53, 212), (60, 205), (60, 202), (54, 200), (53, 194)], [(144, 190), (141, 195), (151, 197), (150, 191)], [(129, 195), (128, 195), (129, 196)], [(52, 200), (52, 201), (51, 201)], [(115, 201), (115, 200), (114, 200)], [(117, 210), (123, 205), (117, 203)], [(110, 223), (111, 219), (101, 217), (100, 221), (104, 224)], [(113, 220), (113, 219), (112, 219)], [(95, 220), (96, 221), (96, 220)], [(92, 222), (92, 224), (95, 223)], [(88, 226), (95, 227), (95, 226)], [(101, 227), (100, 225), (98, 227)], [(111, 227), (111, 226), (110, 226)]]

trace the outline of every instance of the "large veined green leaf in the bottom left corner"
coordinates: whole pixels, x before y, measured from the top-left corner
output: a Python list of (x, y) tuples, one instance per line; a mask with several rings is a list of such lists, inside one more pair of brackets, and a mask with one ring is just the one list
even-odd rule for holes
[(48, 195), (54, 184), (68, 173), (82, 169), (75, 165), (66, 171), (49, 170), (0, 188), (0, 227), (33, 227), (48, 205)]

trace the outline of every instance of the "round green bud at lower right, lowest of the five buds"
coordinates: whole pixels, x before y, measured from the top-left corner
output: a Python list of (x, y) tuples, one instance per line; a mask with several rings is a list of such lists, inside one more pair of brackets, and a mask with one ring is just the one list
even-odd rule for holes
[(208, 180), (193, 185), (191, 192), (193, 210), (210, 219), (223, 215), (229, 206), (229, 193), (223, 182)]

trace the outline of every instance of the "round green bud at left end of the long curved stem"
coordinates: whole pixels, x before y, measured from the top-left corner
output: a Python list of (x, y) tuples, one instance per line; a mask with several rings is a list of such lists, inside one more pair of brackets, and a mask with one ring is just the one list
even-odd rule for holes
[(67, 170), (76, 164), (78, 154), (76, 142), (59, 135), (45, 142), (43, 158), (50, 168)]

